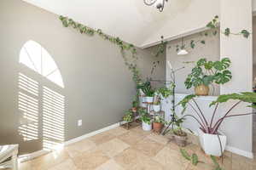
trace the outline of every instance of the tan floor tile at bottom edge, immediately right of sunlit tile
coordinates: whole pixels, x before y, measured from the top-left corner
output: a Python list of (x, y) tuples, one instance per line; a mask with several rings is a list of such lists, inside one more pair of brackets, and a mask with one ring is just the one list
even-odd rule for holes
[(102, 150), (88, 150), (72, 158), (76, 167), (82, 170), (93, 170), (107, 162), (110, 158)]

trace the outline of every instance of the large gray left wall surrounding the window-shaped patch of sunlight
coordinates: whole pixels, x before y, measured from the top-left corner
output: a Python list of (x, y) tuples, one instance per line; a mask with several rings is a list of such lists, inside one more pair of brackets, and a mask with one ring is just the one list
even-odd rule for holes
[[(42, 149), (42, 141), (23, 142), (17, 129), (17, 78), (20, 48), (40, 43), (55, 59), (64, 81), (66, 140), (119, 122), (131, 106), (135, 86), (119, 48), (101, 37), (88, 37), (61, 26), (58, 16), (20, 0), (0, 5), (0, 144), (20, 144), (20, 153)], [(149, 74), (154, 49), (138, 49), (143, 77)], [(154, 78), (164, 79), (165, 55)], [(83, 126), (77, 127), (77, 121)]]

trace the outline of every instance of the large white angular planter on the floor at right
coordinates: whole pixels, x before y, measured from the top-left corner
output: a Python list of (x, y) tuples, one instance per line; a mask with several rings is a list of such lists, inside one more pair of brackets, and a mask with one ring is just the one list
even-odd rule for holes
[[(226, 147), (227, 143), (227, 137), (224, 135), (224, 133), (220, 133), (220, 135), (217, 134), (207, 134), (203, 133), (201, 129), (198, 130), (199, 133), (199, 140), (201, 144), (201, 148), (205, 151), (207, 155), (212, 156), (221, 156), (221, 153), (224, 152), (224, 149)], [(222, 145), (222, 151), (219, 143)]]

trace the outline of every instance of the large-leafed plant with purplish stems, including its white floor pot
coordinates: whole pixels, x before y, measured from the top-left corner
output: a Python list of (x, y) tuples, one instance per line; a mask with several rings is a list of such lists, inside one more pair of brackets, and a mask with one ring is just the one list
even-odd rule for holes
[[(219, 131), (219, 127), (221, 126), (221, 124), (224, 122), (226, 118), (230, 118), (233, 116), (247, 116), (247, 115), (255, 114), (255, 112), (252, 112), (247, 114), (230, 115), (231, 111), (237, 105), (241, 104), (241, 102), (250, 103), (252, 105), (248, 105), (249, 107), (256, 108), (256, 106), (253, 105), (253, 103), (256, 103), (256, 94), (252, 92), (244, 92), (239, 94), (219, 95), (218, 99), (216, 99), (215, 101), (212, 101), (212, 103), (209, 105), (210, 107), (212, 105), (215, 106), (210, 120), (207, 120), (207, 118), (204, 116), (203, 111), (195, 101), (196, 97), (197, 95), (195, 94), (187, 95), (177, 105), (182, 105), (183, 112), (184, 112), (189, 105), (191, 106), (192, 103), (195, 104), (197, 109), (196, 108), (192, 108), (192, 109), (195, 111), (196, 115), (189, 114), (189, 115), (183, 116), (183, 118), (186, 116), (190, 116), (194, 118), (196, 122), (199, 123), (200, 125), (199, 132), (198, 132), (199, 139), (200, 139), (201, 148), (205, 151), (205, 153), (207, 155), (212, 155), (212, 156), (221, 156), (222, 153), (224, 152), (224, 148), (227, 142), (227, 137), (224, 135), (224, 133), (221, 133)], [(224, 116), (220, 116), (220, 118), (214, 120), (216, 117), (218, 105), (230, 100), (236, 100), (236, 104), (232, 105), (230, 107), (230, 110), (224, 113)]]

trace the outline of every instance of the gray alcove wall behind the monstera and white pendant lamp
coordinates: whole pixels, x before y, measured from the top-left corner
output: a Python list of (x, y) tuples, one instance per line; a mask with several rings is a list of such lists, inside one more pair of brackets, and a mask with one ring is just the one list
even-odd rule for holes
[[(205, 40), (206, 44), (197, 43), (194, 49), (190, 47), (190, 41), (195, 40), (201, 41)], [(190, 35), (188, 37), (184, 37), (184, 44), (187, 45), (186, 49), (189, 52), (187, 55), (177, 55), (176, 45), (181, 46), (182, 39), (173, 40), (168, 42), (166, 47), (166, 60), (170, 60), (174, 69), (185, 67), (181, 71), (177, 71), (176, 81), (177, 81), (177, 94), (192, 94), (194, 93), (194, 88), (186, 89), (184, 82), (188, 74), (191, 72), (192, 68), (195, 66), (194, 64), (184, 64), (183, 62), (188, 61), (197, 61), (201, 58), (207, 58), (208, 60), (218, 60), (219, 59), (219, 35), (216, 36), (208, 36), (202, 37), (201, 34), (197, 33), (194, 35)], [(170, 79), (170, 69), (168, 65), (166, 65), (166, 79)], [(215, 93), (214, 95), (219, 94), (219, 86), (215, 85)], [(212, 95), (212, 88), (210, 91), (210, 95)]]

